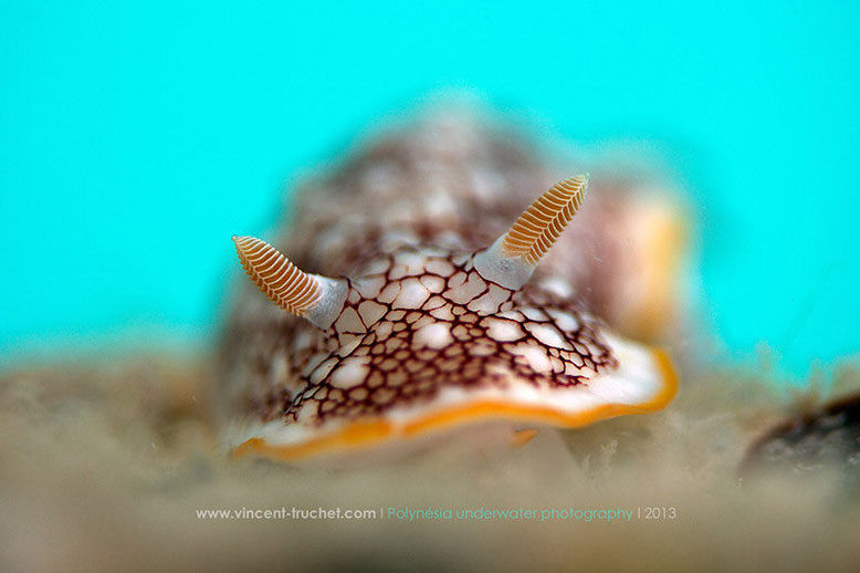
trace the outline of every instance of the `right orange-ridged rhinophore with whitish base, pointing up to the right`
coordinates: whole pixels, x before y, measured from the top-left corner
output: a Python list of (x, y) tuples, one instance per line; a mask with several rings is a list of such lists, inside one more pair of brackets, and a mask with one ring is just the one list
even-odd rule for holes
[(589, 175), (558, 181), (520, 216), (510, 231), (475, 257), (481, 275), (507, 289), (520, 289), (532, 275), (583, 205)]

